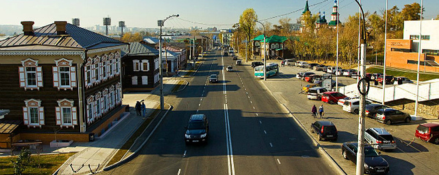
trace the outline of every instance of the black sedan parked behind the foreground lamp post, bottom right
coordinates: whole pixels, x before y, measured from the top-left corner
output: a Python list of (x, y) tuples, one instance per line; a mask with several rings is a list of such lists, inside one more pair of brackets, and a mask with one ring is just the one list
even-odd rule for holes
[[(358, 143), (343, 143), (343, 158), (357, 163)], [(376, 152), (372, 146), (364, 146), (364, 172), (368, 174), (386, 174), (389, 172), (389, 163)]]

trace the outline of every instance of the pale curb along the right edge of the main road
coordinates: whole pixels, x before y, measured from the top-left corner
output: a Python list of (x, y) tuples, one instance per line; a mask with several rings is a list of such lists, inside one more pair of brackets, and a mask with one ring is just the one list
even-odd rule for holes
[(331, 155), (329, 155), (329, 153), (325, 150), (325, 148), (322, 147), (322, 145), (320, 145), (319, 142), (317, 142), (316, 138), (314, 138), (310, 132), (306, 129), (306, 127), (302, 124), (302, 122), (299, 121), (299, 119), (289, 110), (288, 107), (286, 107), (286, 105), (284, 103), (281, 103), (276, 96), (274, 96), (273, 92), (267, 87), (267, 85), (265, 85), (265, 83), (262, 82), (262, 84), (265, 86), (265, 88), (270, 92), (271, 96), (274, 97), (274, 99), (276, 99), (276, 101), (279, 104), (282, 104), (282, 106), (288, 111), (288, 113), (291, 115), (292, 118), (294, 118), (294, 120), (296, 121), (296, 123), (298, 125), (300, 125), (302, 127), (302, 129), (305, 131), (305, 133), (307, 133), (307, 135), (313, 140), (314, 144), (320, 149), (323, 150), (324, 155), (326, 156), (326, 158), (328, 158), (332, 163), (333, 166), (336, 167), (336, 169), (339, 171), (339, 174), (344, 174), (347, 175), (347, 173), (343, 170), (343, 168), (334, 160), (334, 158), (332, 158)]

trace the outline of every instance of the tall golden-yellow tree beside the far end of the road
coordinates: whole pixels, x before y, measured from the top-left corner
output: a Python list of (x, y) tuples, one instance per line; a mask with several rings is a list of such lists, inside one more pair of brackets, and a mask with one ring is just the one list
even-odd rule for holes
[[(241, 16), (239, 16), (239, 31), (243, 32), (246, 36), (247, 42), (245, 43), (245, 48), (247, 51), (242, 51), (241, 55), (244, 55), (246, 61), (248, 57), (250, 57), (251, 50), (248, 42), (251, 39), (251, 36), (254, 32), (254, 27), (256, 25), (255, 20), (257, 20), (256, 12), (253, 8), (247, 8), (242, 12)], [(246, 54), (247, 53), (247, 54)]]

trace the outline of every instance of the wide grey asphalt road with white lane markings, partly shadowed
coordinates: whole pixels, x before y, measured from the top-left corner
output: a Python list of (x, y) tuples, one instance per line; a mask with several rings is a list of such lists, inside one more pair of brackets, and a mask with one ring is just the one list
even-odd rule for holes
[[(336, 174), (307, 134), (253, 77), (219, 51), (205, 56), (189, 86), (168, 98), (174, 109), (137, 157), (101, 174)], [(218, 83), (208, 75), (218, 74)], [(191, 114), (207, 115), (207, 144), (186, 145)]]

